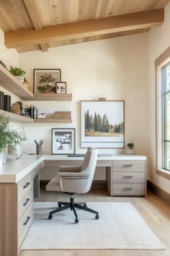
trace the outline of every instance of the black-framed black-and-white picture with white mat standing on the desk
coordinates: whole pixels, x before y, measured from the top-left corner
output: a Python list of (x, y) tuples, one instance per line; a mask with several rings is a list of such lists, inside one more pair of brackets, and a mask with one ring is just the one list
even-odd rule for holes
[(52, 129), (52, 155), (75, 153), (75, 128)]

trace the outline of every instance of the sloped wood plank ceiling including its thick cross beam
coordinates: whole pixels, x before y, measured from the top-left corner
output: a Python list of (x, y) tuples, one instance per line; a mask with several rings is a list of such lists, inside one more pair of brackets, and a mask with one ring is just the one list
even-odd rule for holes
[(5, 45), (17, 51), (145, 33), (169, 0), (0, 0)]

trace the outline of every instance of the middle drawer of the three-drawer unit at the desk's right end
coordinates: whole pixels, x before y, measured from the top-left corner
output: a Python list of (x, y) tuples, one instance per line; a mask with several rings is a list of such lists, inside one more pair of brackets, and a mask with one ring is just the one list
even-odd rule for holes
[(144, 171), (114, 171), (112, 173), (112, 182), (119, 183), (145, 183)]

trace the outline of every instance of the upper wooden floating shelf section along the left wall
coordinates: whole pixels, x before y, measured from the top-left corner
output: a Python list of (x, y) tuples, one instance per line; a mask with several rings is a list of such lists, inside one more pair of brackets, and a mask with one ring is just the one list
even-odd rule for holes
[(22, 85), (21, 82), (14, 77), (7, 69), (0, 64), (0, 86), (10, 93), (14, 93), (22, 100), (30, 100), (33, 98), (33, 93)]

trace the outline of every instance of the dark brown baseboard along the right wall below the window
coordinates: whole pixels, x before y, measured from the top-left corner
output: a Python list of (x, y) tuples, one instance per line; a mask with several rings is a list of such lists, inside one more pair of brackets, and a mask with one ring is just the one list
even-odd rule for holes
[(161, 189), (161, 187), (156, 186), (156, 184), (153, 184), (150, 181), (147, 181), (148, 189), (153, 192), (153, 194), (157, 195), (161, 200), (164, 200), (170, 205), (170, 194), (166, 192), (164, 189)]

